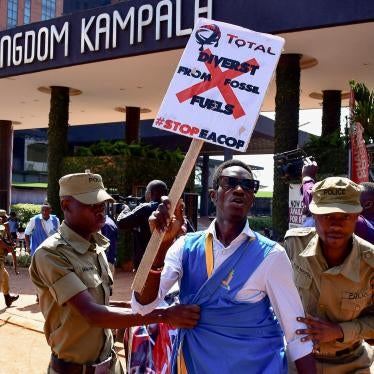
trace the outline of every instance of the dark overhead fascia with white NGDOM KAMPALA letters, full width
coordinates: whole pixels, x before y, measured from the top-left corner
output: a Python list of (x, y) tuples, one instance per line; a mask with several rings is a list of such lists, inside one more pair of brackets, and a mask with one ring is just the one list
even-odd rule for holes
[(287, 0), (285, 7), (279, 0), (124, 1), (0, 32), (0, 78), (183, 48), (201, 17), (276, 34), (372, 21), (374, 2)]

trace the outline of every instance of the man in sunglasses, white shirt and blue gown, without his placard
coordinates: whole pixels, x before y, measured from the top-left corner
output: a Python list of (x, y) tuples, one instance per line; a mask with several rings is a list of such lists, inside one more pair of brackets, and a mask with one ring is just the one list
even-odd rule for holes
[[(299, 372), (314, 373), (312, 344), (296, 335), (305, 328), (296, 320), (304, 312), (287, 255), (248, 224), (258, 187), (243, 162), (221, 164), (211, 191), (217, 218), (169, 249), (167, 232), (143, 292), (133, 296), (133, 310), (145, 314), (179, 282), (181, 303), (200, 305), (198, 325), (179, 331), (173, 351), (175, 362), (181, 345), (180, 362), (188, 373), (287, 373), (284, 335)], [(165, 230), (169, 222), (164, 200), (150, 223)]]

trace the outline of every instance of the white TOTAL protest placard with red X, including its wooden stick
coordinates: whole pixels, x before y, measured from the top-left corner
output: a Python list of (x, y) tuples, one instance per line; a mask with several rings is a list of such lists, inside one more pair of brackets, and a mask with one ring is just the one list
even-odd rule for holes
[[(198, 20), (153, 124), (193, 139), (170, 190), (172, 211), (204, 142), (247, 149), (283, 45), (278, 36)], [(142, 291), (162, 238), (153, 232), (134, 291)]]

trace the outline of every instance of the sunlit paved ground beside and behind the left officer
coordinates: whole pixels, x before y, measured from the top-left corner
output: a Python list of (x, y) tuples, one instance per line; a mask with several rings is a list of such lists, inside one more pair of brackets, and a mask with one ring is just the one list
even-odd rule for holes
[[(35, 290), (28, 270), (20, 268), (16, 276), (8, 267), (11, 292), (20, 298), (11, 308), (6, 308), (0, 294), (0, 374), (41, 374), (46, 372), (50, 349), (43, 334), (43, 316), (35, 302)], [(113, 300), (129, 300), (132, 273), (118, 270), (115, 274)], [(116, 343), (124, 363), (123, 346)]]

